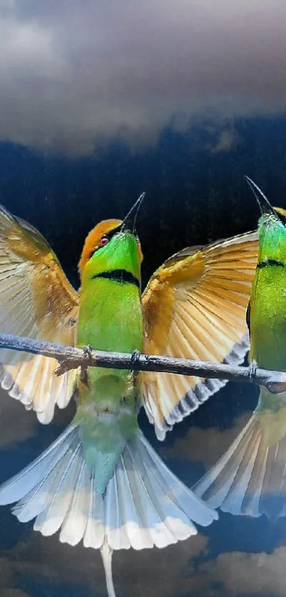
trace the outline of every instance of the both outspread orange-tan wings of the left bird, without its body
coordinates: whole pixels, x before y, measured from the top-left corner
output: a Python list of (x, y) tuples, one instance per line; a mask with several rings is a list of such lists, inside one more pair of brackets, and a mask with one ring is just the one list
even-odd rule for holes
[[(256, 233), (173, 255), (143, 294), (145, 350), (240, 362), (248, 348), (245, 312), (256, 263)], [(78, 296), (43, 236), (0, 209), (0, 329), (73, 344)], [(52, 359), (1, 351), (1, 385), (42, 422), (66, 406), (75, 371), (57, 379)], [(142, 374), (143, 403), (160, 438), (224, 381)]]

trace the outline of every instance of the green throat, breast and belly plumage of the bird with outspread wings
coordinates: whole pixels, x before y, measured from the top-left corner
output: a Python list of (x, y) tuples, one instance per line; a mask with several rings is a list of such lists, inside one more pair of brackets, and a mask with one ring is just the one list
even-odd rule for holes
[[(92, 255), (82, 275), (77, 346), (142, 350), (140, 269), (138, 244), (128, 232), (117, 233)], [(78, 389), (75, 422), (81, 426), (89, 470), (96, 472), (97, 491), (104, 492), (126, 441), (138, 429), (138, 376), (91, 367), (86, 379), (79, 379)]]

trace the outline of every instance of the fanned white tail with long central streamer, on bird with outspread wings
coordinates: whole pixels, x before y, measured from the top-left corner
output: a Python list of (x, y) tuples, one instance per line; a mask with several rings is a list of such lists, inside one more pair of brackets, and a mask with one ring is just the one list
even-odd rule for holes
[(0, 487), (0, 504), (18, 502), (21, 522), (60, 541), (101, 549), (109, 597), (114, 597), (114, 549), (165, 547), (197, 533), (217, 513), (180, 482), (139, 432), (126, 447), (103, 495), (84, 461), (79, 428), (70, 426), (31, 465)]

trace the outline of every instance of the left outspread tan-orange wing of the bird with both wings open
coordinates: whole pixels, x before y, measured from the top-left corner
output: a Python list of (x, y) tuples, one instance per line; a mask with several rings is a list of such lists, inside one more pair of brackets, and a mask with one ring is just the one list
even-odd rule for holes
[[(74, 344), (77, 292), (43, 236), (0, 207), (0, 332)], [(72, 396), (75, 370), (55, 376), (57, 361), (0, 350), (1, 386), (33, 408), (39, 421), (53, 418)]]

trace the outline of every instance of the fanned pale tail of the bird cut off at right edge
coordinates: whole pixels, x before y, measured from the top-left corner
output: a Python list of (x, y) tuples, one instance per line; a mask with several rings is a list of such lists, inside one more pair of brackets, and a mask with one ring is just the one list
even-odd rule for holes
[[(275, 413), (255, 411), (221, 459), (192, 487), (211, 507), (230, 514), (286, 514), (286, 435), (270, 441)], [(268, 417), (268, 420), (267, 420)]]

